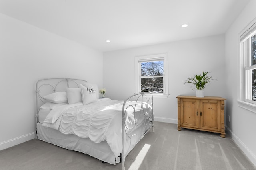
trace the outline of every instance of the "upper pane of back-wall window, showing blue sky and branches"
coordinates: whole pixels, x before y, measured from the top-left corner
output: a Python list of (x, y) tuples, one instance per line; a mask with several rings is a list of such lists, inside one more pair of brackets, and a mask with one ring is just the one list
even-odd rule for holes
[(141, 63), (141, 76), (163, 76), (164, 61)]

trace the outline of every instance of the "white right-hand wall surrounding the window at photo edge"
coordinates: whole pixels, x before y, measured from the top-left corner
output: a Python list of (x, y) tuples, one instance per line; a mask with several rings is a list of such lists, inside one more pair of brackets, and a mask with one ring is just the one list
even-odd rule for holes
[(226, 126), (232, 138), (256, 165), (256, 113), (252, 113), (238, 106), (238, 81), (239, 81), (239, 33), (254, 19), (256, 1), (251, 0), (236, 21), (226, 32), (226, 85), (227, 111), (230, 123)]

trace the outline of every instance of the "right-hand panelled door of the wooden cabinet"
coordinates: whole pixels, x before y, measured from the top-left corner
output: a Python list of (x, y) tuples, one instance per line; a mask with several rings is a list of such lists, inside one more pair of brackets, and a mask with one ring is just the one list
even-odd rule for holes
[(220, 131), (220, 101), (201, 100), (200, 128), (210, 131)]

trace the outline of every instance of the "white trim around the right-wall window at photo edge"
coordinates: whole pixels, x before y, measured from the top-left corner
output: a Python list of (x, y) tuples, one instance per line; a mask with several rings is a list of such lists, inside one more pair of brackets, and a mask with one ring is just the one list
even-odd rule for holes
[[(244, 41), (244, 39), (247, 39), (247, 37), (252, 36), (252, 33), (250, 32), (252, 29), (254, 29), (256, 26), (256, 18), (247, 25), (243, 31), (239, 34), (239, 79), (238, 79), (238, 106), (242, 107), (244, 109), (247, 109), (249, 111), (252, 111), (256, 113), (256, 102), (247, 100), (245, 98), (246, 94), (246, 53), (248, 53), (248, 49), (245, 49), (244, 47), (241, 47), (241, 42)], [(244, 50), (245, 49), (245, 50)], [(247, 63), (248, 64), (248, 63)]]

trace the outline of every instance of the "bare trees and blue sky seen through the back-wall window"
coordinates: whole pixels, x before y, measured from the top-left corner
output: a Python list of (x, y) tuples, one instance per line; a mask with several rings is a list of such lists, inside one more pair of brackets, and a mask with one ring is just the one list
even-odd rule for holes
[(141, 63), (141, 91), (164, 92), (164, 61)]

